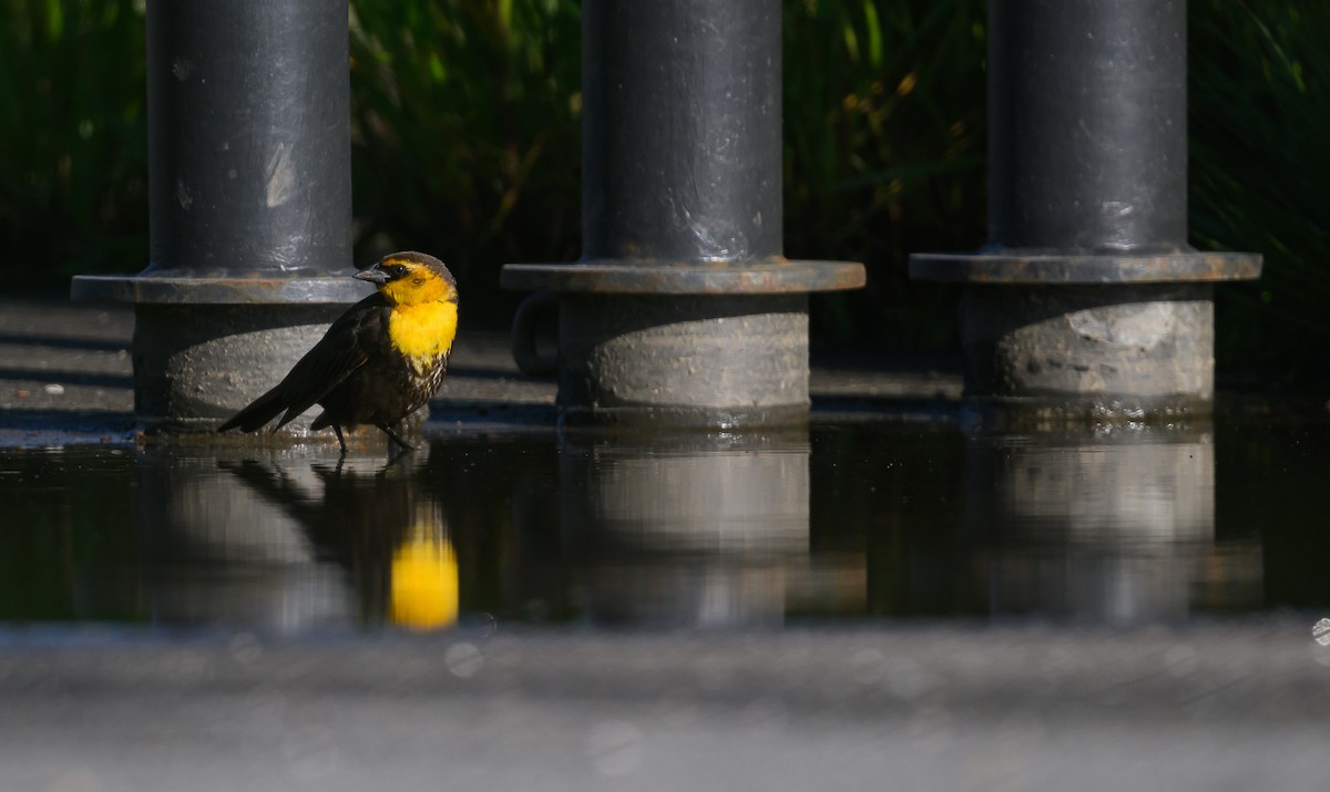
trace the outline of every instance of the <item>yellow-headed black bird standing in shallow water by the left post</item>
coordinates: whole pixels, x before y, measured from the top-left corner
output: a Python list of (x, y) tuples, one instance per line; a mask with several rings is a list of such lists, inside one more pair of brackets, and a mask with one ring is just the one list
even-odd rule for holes
[(332, 427), (342, 453), (342, 428), (366, 424), (411, 448), (392, 428), (443, 384), (458, 331), (458, 283), (423, 252), (383, 256), (352, 278), (374, 283), (376, 294), (342, 314), (286, 379), (218, 432), (253, 432), (285, 413), (279, 429), (318, 403), (323, 413), (310, 428)]

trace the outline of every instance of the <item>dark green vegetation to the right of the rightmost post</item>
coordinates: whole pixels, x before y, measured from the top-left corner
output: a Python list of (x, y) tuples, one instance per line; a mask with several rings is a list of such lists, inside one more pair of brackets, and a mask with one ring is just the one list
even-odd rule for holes
[(1261, 282), (1216, 290), (1217, 355), (1275, 385), (1326, 377), (1327, 24), (1315, 0), (1190, 7), (1192, 243), (1265, 254)]

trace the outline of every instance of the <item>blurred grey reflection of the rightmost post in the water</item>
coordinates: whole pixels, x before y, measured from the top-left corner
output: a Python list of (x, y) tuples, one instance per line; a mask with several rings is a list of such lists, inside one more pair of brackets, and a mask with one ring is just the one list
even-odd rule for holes
[(1260, 606), (1260, 541), (1216, 542), (1209, 427), (978, 436), (966, 489), (995, 614), (1138, 623)]

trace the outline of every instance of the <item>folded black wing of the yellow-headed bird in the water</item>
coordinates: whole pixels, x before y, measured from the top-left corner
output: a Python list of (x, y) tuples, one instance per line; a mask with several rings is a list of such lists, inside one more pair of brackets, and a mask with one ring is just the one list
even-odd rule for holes
[(351, 372), (364, 365), (374, 340), (384, 332), (388, 306), (379, 295), (370, 295), (342, 314), (329, 327), (327, 334), (305, 353), (305, 357), (291, 368), (282, 380), (282, 395), (287, 409), (278, 421), (282, 428), (287, 421), (301, 415), (323, 399), (329, 391)]

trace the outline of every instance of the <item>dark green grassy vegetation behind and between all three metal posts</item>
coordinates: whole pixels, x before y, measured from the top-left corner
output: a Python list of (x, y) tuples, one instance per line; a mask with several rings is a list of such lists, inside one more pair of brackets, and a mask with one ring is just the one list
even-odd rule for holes
[[(580, 23), (573, 0), (352, 0), (356, 258), (422, 248), (503, 324), (504, 262), (579, 254)], [(954, 294), (906, 255), (984, 238), (983, 0), (786, 0), (786, 252), (863, 260), (819, 298), (821, 338), (954, 343)], [(1266, 255), (1224, 286), (1221, 364), (1297, 384), (1330, 342), (1330, 4), (1192, 0), (1192, 230)], [(148, 260), (142, 3), (0, 3), (0, 243), (63, 290)], [(35, 272), (35, 275), (33, 275)]]

